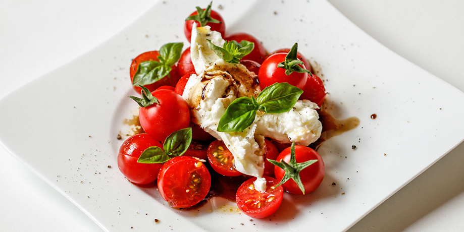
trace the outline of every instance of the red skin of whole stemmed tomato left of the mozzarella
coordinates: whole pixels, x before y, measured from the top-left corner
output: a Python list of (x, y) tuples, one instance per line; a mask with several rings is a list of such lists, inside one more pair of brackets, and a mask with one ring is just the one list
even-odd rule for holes
[(160, 89), (151, 94), (159, 103), (140, 107), (140, 126), (153, 139), (164, 142), (173, 132), (188, 127), (190, 109), (182, 96), (172, 90)]

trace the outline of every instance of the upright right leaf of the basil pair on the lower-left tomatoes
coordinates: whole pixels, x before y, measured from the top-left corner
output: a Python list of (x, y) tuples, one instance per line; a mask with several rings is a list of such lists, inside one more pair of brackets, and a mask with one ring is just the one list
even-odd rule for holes
[(169, 135), (163, 144), (163, 148), (170, 156), (181, 156), (187, 151), (191, 142), (192, 129), (185, 128)]

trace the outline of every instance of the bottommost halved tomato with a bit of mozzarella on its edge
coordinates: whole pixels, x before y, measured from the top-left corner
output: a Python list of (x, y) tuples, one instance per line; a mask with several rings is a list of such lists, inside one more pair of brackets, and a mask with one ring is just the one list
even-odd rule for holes
[(272, 177), (266, 178), (266, 192), (254, 188), (256, 178), (245, 181), (237, 190), (236, 202), (238, 208), (246, 215), (254, 218), (264, 218), (273, 214), (282, 203), (282, 186), (275, 187), (279, 182)]

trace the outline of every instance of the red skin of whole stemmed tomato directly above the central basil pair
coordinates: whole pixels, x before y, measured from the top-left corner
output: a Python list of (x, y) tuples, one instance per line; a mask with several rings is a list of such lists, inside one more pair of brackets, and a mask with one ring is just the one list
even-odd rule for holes
[[(300, 89), (304, 88), (307, 81), (307, 73), (292, 72), (290, 75), (286, 75), (284, 68), (277, 67), (279, 63), (285, 61), (286, 55), (287, 53), (275, 53), (267, 57), (267, 59), (263, 62), (260, 72), (258, 73), (258, 80), (260, 81), (261, 89), (277, 82), (287, 82)], [(300, 66), (305, 68), (304, 65)]]

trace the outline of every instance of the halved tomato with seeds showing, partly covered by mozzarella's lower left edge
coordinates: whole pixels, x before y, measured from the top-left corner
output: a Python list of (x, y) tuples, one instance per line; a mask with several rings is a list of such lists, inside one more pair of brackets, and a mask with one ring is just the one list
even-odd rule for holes
[(221, 175), (237, 177), (242, 175), (234, 167), (234, 156), (223, 141), (215, 140), (208, 147), (208, 160), (211, 167)]

